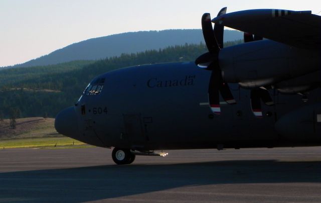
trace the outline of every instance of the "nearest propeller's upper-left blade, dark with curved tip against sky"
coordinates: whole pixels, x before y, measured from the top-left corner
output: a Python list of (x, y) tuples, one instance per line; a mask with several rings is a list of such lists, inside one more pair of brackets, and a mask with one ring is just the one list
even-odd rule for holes
[(207, 49), (210, 53), (217, 53), (219, 47), (214, 37), (214, 31), (211, 22), (211, 15), (205, 13), (202, 16), (202, 31)]

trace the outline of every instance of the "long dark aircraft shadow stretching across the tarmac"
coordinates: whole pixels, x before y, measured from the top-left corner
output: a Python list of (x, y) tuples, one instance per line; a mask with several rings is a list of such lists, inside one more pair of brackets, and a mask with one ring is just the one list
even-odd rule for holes
[[(321, 162), (213, 161), (0, 173), (0, 201), (92, 201), (183, 186), (321, 182)], [(13, 198), (14, 197), (14, 198)]]

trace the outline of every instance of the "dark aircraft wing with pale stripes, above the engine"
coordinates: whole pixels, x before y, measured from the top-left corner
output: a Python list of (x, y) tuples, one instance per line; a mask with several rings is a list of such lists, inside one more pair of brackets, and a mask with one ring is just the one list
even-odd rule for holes
[(226, 27), (303, 49), (321, 49), (321, 16), (311, 11), (258, 9), (218, 16)]

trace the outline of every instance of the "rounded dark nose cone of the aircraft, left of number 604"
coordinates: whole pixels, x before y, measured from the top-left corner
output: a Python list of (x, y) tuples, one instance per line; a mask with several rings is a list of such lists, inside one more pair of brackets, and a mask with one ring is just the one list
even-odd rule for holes
[(74, 107), (61, 111), (55, 119), (55, 129), (58, 133), (77, 139), (78, 124)]

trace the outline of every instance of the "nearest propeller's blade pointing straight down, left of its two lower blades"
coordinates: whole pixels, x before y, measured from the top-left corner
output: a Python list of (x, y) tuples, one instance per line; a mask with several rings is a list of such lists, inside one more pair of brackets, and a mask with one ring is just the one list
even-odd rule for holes
[[(212, 63), (210, 66), (214, 66)], [(221, 114), (220, 108), (220, 94), (219, 94), (219, 86), (220, 86), (220, 70), (218, 68), (212, 67), (213, 71), (211, 73), (208, 96), (209, 96), (209, 104), (211, 111), (216, 114)]]

